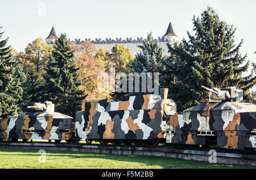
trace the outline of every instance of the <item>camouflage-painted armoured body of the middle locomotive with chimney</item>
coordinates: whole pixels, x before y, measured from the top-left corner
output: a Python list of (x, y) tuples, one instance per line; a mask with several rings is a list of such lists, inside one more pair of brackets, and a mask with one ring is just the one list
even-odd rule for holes
[(164, 107), (170, 106), (168, 110), (176, 113), (175, 103), (167, 101), (172, 104), (162, 103), (159, 95), (139, 95), (130, 96), (129, 101), (85, 102), (76, 113), (76, 136), (97, 140), (165, 138)]

